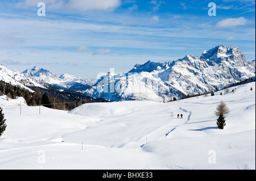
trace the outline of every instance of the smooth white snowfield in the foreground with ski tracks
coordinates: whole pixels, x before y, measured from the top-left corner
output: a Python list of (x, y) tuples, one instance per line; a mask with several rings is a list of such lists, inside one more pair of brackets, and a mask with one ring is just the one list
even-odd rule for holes
[[(0, 169), (255, 169), (255, 82), (219, 93), (84, 104), (71, 112), (41, 107), (40, 115), (23, 103), (20, 115), (22, 98), (1, 96), (7, 128)], [(224, 130), (214, 115), (221, 100), (230, 109)]]

